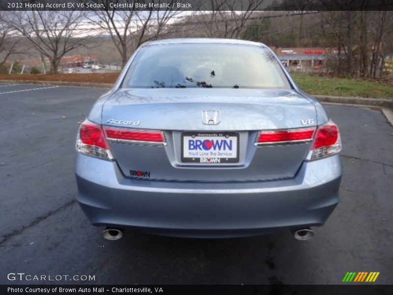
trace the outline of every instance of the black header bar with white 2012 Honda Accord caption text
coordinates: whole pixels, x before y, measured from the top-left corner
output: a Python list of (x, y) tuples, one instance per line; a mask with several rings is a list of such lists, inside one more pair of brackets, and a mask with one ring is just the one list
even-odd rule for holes
[(393, 10), (393, 0), (0, 0), (0, 10)]

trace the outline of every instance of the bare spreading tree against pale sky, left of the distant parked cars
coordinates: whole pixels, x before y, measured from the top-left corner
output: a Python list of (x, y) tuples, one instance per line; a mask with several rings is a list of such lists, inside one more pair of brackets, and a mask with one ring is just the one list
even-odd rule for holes
[(61, 58), (84, 45), (87, 36), (78, 28), (84, 14), (84, 11), (8, 11), (3, 21), (47, 57), (52, 73), (57, 73)]

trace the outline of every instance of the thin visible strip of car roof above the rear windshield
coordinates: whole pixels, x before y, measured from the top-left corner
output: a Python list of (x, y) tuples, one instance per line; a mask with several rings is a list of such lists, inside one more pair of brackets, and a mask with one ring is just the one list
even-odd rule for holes
[(143, 43), (142, 46), (161, 45), (161, 44), (239, 44), (266, 47), (265, 44), (247, 40), (224, 39), (224, 38), (171, 38), (154, 40)]

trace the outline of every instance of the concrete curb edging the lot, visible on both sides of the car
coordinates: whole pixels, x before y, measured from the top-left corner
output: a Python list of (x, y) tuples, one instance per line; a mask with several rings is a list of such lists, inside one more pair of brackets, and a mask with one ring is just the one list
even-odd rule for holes
[[(0, 80), (0, 82), (8, 83), (8, 84), (35, 84), (35, 85), (77, 86), (77, 87), (93, 87), (93, 88), (112, 88), (113, 86), (113, 84), (110, 83), (36, 81), (36, 80)], [(312, 96), (317, 98), (320, 102), (363, 105), (363, 106), (373, 106), (373, 107), (393, 109), (393, 99), (389, 99), (389, 98), (364, 98), (364, 97), (329, 96), (329, 95), (312, 95)]]

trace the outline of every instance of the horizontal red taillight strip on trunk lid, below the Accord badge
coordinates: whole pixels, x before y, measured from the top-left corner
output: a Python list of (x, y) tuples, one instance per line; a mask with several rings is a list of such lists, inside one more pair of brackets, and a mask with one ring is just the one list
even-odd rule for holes
[(162, 144), (165, 145), (165, 136), (162, 131), (130, 130), (127, 128), (104, 127), (108, 140), (124, 141), (140, 144)]

